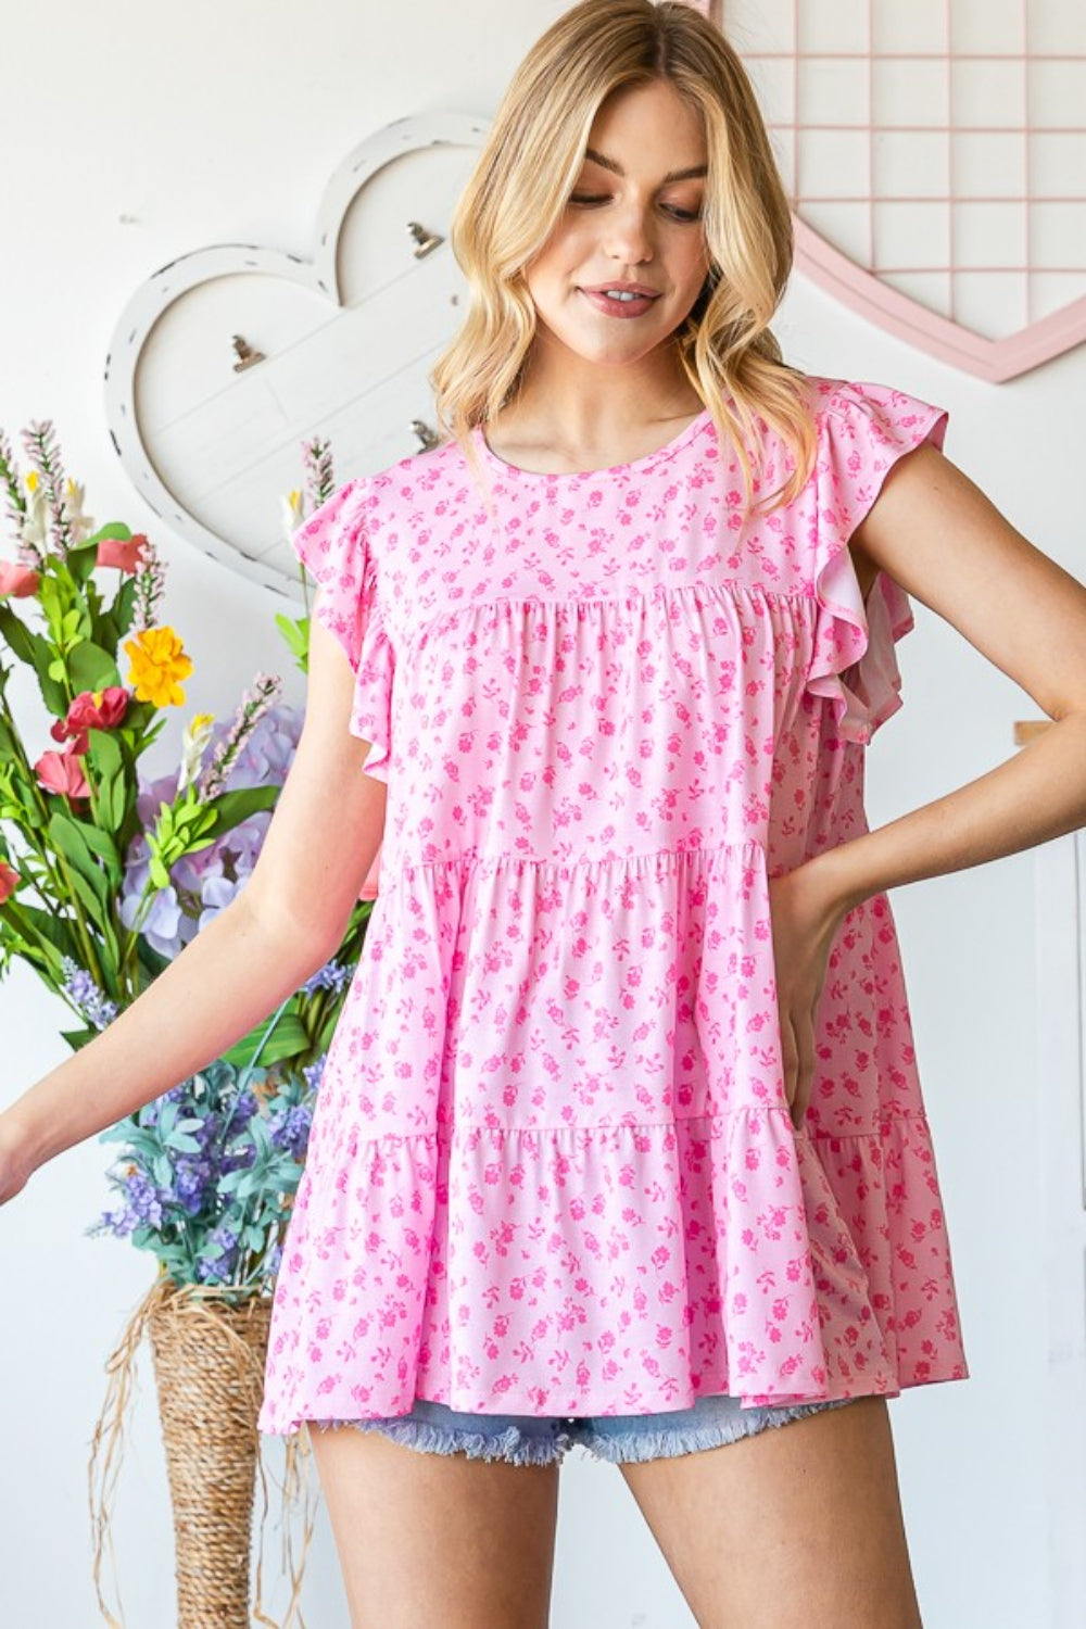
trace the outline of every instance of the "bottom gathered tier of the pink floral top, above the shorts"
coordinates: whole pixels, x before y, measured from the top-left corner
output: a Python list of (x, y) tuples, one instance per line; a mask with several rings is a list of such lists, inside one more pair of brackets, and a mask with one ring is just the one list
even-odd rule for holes
[[(484, 1194), (508, 1202), (492, 1212)], [(389, 1218), (399, 1243), (374, 1249)], [(296, 1256), (342, 1261), (345, 1289), (280, 1276), (264, 1432), (405, 1414), (417, 1396), (645, 1414), (969, 1373), (923, 1116), (845, 1137), (796, 1132), (773, 1108), (388, 1135), (331, 1191), (306, 1166), (295, 1228)]]

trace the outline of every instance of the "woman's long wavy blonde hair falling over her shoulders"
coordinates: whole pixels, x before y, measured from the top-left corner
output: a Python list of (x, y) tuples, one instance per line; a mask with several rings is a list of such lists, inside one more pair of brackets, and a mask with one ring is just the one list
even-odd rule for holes
[[(567, 207), (604, 98), (655, 80), (700, 112), (708, 148), (710, 270), (669, 340), (734, 448), (747, 510), (764, 512), (799, 492), (814, 459), (806, 375), (783, 360), (769, 326), (791, 272), (791, 217), (746, 70), (684, 0), (581, 0), (516, 68), (449, 228), (469, 305), (428, 375), (438, 428), (482, 476), (471, 432), (516, 393), (536, 334), (523, 270)], [(755, 503), (765, 427), (791, 469)]]

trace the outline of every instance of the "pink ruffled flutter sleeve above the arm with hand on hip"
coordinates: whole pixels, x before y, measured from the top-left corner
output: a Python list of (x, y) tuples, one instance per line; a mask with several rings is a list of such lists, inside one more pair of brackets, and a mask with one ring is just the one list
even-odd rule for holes
[(866, 744), (902, 704), (896, 643), (913, 627), (913, 614), (905, 590), (882, 570), (865, 601), (848, 539), (904, 453), (923, 441), (943, 446), (948, 414), (884, 384), (840, 383), (817, 419), (817, 611), (808, 691), (832, 702), (843, 740)]

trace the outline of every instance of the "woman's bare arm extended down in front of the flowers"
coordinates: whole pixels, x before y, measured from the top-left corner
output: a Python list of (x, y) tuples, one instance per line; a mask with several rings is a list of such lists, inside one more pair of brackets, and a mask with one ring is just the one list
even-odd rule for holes
[(218, 1057), (335, 951), (384, 832), (384, 785), (348, 733), (352, 691), (314, 619), (306, 722), (252, 876), (132, 1007), (0, 1114), (0, 1201)]

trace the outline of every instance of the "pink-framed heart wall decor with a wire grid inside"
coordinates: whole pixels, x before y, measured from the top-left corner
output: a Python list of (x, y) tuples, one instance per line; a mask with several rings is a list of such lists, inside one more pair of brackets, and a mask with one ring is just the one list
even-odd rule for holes
[(796, 266), (1009, 380), (1086, 339), (1083, 0), (695, 0), (744, 59)]

